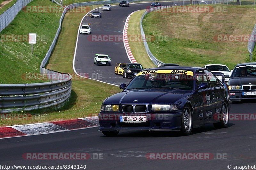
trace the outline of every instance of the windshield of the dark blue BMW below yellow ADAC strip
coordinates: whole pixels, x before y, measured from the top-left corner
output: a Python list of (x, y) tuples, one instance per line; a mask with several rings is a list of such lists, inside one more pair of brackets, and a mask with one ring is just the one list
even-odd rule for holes
[[(162, 71), (162, 70), (161, 70)], [(145, 71), (142, 71), (145, 72)], [(127, 85), (125, 90), (129, 89), (193, 89), (193, 73), (192, 75), (186, 74), (171, 74), (171, 73), (153, 73), (143, 74), (140, 72), (131, 83)], [(142, 75), (141, 75), (142, 73)]]

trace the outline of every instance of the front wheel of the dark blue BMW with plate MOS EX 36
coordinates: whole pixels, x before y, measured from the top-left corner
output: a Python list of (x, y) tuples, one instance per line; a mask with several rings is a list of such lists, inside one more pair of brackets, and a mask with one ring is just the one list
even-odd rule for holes
[(185, 105), (181, 115), (181, 131), (184, 135), (190, 135), (192, 129), (192, 110), (188, 105)]

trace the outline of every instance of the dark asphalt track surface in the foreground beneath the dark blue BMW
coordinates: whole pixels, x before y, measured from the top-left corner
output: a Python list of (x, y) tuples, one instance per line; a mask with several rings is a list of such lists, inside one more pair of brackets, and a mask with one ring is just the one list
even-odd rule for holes
[[(255, 101), (232, 104), (230, 113), (255, 113)], [(255, 120), (230, 121), (226, 129), (212, 124), (190, 136), (177, 132), (127, 131), (105, 137), (98, 128), (0, 139), (0, 165), (86, 165), (86, 169), (228, 169), (255, 165)], [(88, 160), (26, 160), (24, 153), (89, 153)], [(149, 160), (146, 153), (212, 153), (226, 159)], [(96, 155), (96, 156), (95, 156)], [(233, 169), (233, 168), (232, 168)]]

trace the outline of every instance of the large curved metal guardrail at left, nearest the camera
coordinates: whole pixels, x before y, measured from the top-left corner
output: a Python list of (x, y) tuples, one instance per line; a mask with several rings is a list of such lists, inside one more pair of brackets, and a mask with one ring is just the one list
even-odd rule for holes
[[(30, 111), (59, 105), (71, 94), (71, 76), (43, 68), (51, 81), (33, 84), (0, 85), (0, 113)], [(64, 78), (63, 78), (64, 77)]]

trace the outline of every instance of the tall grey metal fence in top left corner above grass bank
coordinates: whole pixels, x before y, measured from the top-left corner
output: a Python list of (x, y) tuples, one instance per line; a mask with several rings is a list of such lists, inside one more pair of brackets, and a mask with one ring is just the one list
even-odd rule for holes
[(0, 32), (8, 26), (16, 17), (19, 11), (33, 0), (17, 0), (8, 10), (0, 15)]

